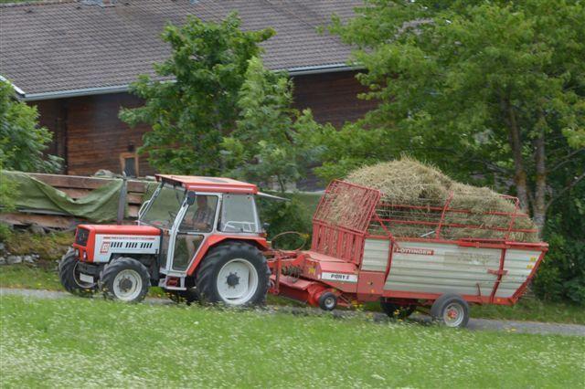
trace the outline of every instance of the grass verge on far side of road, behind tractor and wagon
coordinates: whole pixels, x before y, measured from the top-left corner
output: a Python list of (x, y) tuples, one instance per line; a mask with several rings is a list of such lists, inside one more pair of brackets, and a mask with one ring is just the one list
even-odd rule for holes
[[(27, 265), (12, 265), (0, 267), (1, 288), (48, 289), (63, 290), (58, 281), (57, 263), (45, 267), (33, 268)], [(153, 297), (165, 297), (162, 289), (151, 289)], [(291, 305), (291, 300), (269, 296), (269, 303), (274, 305)], [(378, 303), (368, 303), (363, 310), (379, 311)], [(547, 303), (540, 300), (523, 299), (513, 307), (496, 305), (472, 305), (472, 318), (516, 320), (516, 321), (548, 321), (571, 324), (585, 324), (585, 309), (583, 307), (563, 304)]]

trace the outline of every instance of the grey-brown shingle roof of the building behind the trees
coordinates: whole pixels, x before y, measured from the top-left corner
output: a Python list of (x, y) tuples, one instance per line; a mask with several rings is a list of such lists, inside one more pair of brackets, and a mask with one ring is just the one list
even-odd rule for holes
[(350, 48), (319, 34), (332, 14), (351, 17), (358, 0), (118, 0), (101, 7), (78, 1), (0, 5), (0, 75), (27, 97), (74, 89), (124, 87), (169, 54), (166, 23), (187, 15), (217, 21), (233, 10), (246, 30), (271, 26), (263, 46), (272, 69), (345, 64)]

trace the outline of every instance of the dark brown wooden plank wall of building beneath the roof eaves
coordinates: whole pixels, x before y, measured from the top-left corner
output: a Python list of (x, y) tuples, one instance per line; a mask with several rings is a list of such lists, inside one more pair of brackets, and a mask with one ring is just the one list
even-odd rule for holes
[[(355, 71), (297, 76), (294, 81), (294, 106), (313, 110), (319, 122), (331, 122), (341, 127), (346, 121), (356, 121), (374, 101), (358, 100), (365, 91), (355, 78)], [(83, 96), (35, 103), (41, 123), (56, 133), (50, 152), (66, 159), (63, 173), (91, 175), (100, 169), (121, 173), (120, 153), (142, 145), (144, 132), (150, 127), (133, 129), (118, 119), (121, 107), (142, 105), (142, 100), (128, 93)], [(154, 174), (145, 156), (140, 157), (141, 176)]]

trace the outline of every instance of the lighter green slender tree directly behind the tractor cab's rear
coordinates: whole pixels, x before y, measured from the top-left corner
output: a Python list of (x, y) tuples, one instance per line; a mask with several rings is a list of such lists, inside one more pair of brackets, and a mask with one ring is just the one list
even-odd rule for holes
[(324, 127), (310, 110), (299, 112), (292, 104), (291, 79), (264, 68), (260, 58), (250, 59), (237, 125), (222, 143), (229, 175), (264, 184), (274, 178), (281, 192), (303, 176), (314, 160), (306, 139)]

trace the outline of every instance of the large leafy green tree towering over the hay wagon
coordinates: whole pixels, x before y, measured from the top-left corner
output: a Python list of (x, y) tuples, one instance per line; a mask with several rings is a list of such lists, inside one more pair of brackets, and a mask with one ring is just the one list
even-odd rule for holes
[[(368, 88), (362, 97), (379, 105), (344, 131), (382, 140), (373, 152), (381, 159), (408, 151), (466, 180), (482, 174), (490, 184), (512, 184), (522, 208), (545, 226), (549, 206), (585, 177), (585, 5), (366, 3), (332, 30), (357, 47), (355, 60), (367, 70), (359, 75)], [(342, 166), (359, 161), (360, 144), (349, 145)], [(322, 172), (332, 164), (325, 160)]]

